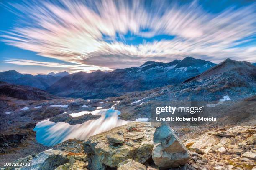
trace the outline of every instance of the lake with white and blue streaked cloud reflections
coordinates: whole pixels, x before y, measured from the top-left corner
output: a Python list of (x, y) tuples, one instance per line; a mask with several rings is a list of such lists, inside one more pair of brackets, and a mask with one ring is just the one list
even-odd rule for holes
[(87, 113), (101, 115), (97, 120), (89, 120), (83, 124), (69, 125), (65, 122), (54, 123), (48, 120), (38, 122), (34, 131), (36, 131), (36, 140), (47, 146), (56, 145), (68, 139), (85, 140), (92, 135), (110, 130), (116, 126), (124, 125), (128, 121), (118, 118), (120, 112), (113, 109), (95, 110), (93, 112), (79, 112), (70, 114), (77, 117)]

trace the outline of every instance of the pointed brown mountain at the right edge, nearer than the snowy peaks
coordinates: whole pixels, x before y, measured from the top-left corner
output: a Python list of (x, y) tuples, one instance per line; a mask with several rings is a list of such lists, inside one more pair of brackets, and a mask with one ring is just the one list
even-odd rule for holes
[[(179, 89), (179, 95), (190, 93), (191, 100), (209, 93), (248, 97), (256, 93), (256, 67), (249, 62), (226, 59), (202, 74), (184, 81)], [(198, 94), (199, 91), (201, 95)]]

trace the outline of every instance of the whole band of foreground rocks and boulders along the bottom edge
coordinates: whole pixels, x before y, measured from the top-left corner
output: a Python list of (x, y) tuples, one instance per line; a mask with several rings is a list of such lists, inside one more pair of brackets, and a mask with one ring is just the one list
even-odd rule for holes
[(4, 170), (251, 170), (256, 127), (233, 126), (179, 139), (167, 125), (131, 122), (88, 140), (67, 140)]

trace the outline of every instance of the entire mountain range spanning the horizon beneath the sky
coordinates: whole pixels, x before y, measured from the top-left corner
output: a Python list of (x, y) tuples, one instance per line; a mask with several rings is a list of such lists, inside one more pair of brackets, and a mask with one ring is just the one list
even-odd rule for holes
[(140, 92), (143, 96), (145, 90), (149, 90), (146, 93), (153, 93), (157, 89), (167, 89), (168, 92), (162, 92), (161, 95), (168, 93), (165, 97), (169, 100), (177, 97), (184, 100), (193, 97), (218, 100), (218, 97), (230, 92), (236, 95), (255, 93), (255, 68), (249, 62), (227, 59), (216, 65), (186, 57), (169, 63), (148, 61), (140, 67), (112, 72), (97, 70), (92, 73), (51, 72), (48, 75), (30, 75), (11, 70), (0, 72), (0, 81), (37, 87), (61, 97), (103, 99), (126, 96), (127, 92)]

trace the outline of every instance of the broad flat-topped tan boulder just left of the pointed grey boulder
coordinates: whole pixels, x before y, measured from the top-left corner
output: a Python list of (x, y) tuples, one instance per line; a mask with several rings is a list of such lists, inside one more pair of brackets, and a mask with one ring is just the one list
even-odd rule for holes
[(89, 169), (117, 167), (128, 159), (145, 163), (152, 155), (154, 131), (149, 123), (130, 122), (90, 137), (83, 142)]

